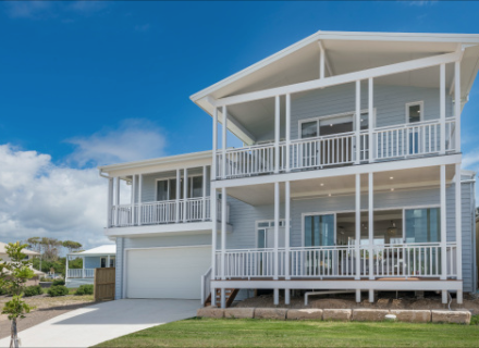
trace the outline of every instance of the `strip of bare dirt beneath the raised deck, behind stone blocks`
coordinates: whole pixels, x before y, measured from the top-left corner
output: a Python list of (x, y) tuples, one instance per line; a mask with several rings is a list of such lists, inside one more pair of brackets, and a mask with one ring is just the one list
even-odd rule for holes
[[(355, 295), (323, 295), (309, 297), (309, 304), (305, 306), (303, 296), (292, 297), (291, 304), (284, 304), (284, 298), (280, 296), (280, 304), (273, 304), (272, 295), (261, 295), (253, 297), (234, 306), (243, 307), (279, 307), (279, 308), (320, 308), (320, 309), (356, 309), (356, 308), (371, 308), (371, 309), (445, 309), (447, 304), (441, 303), (441, 296), (435, 294), (428, 294), (425, 298), (416, 298), (414, 293), (400, 293), (397, 298), (395, 293), (380, 293), (374, 303), (369, 303), (366, 294), (363, 294), (363, 301), (356, 303)], [(463, 304), (457, 304), (456, 299), (451, 302), (453, 310), (469, 310), (472, 314), (479, 314), (479, 299), (465, 296)]]

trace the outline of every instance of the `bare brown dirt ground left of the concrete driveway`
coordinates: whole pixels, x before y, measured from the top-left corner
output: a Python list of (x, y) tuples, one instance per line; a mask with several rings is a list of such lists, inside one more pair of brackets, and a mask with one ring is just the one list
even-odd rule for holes
[[(0, 308), (10, 298), (0, 297)], [(66, 313), (69, 311), (89, 306), (94, 303), (93, 296), (73, 296), (66, 295), (61, 297), (49, 297), (48, 295), (39, 295), (25, 298), (25, 301), (30, 306), (37, 308), (30, 313), (26, 314), (24, 319), (19, 321), (19, 332), (45, 322), (57, 315)], [(10, 321), (7, 315), (0, 315), (0, 338), (10, 336)]]

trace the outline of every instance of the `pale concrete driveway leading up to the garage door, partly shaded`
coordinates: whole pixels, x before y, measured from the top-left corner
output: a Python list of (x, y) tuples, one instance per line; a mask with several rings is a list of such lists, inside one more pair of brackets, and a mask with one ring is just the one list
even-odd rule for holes
[[(77, 309), (19, 333), (22, 347), (89, 347), (196, 315), (199, 300), (125, 299)], [(0, 340), (9, 347), (10, 337)]]

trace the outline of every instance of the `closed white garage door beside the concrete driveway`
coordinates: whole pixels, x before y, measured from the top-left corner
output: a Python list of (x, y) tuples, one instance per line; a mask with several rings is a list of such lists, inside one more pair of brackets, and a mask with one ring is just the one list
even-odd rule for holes
[(211, 247), (127, 250), (126, 297), (199, 299), (210, 266)]

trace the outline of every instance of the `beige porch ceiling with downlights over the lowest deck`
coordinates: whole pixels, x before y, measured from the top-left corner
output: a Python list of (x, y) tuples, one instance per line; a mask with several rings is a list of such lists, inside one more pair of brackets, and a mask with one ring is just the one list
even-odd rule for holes
[[(446, 165), (446, 183), (454, 178), (454, 165)], [(374, 174), (374, 191), (394, 191), (420, 188), (439, 188), (440, 167), (428, 166)], [(361, 191), (368, 191), (368, 175), (361, 175)], [(330, 176), (291, 182), (291, 198), (348, 196), (355, 194), (355, 176)], [(250, 185), (228, 188), (228, 195), (251, 206), (274, 203), (274, 185)], [(284, 184), (280, 183), (280, 200), (284, 201)]]

